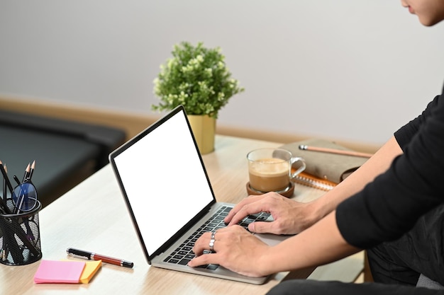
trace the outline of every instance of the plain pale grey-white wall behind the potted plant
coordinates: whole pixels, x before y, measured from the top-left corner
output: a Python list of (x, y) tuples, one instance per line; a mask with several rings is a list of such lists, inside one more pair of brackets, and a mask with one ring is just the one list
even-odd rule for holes
[(444, 79), (444, 24), (389, 0), (0, 0), (0, 94), (152, 115), (182, 40), (220, 46), (245, 93), (218, 125), (382, 144)]

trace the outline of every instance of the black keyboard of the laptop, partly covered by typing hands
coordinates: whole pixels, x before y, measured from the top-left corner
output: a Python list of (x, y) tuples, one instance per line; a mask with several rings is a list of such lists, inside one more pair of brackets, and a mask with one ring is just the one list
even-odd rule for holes
[[(189, 260), (196, 257), (193, 252), (193, 247), (197, 239), (202, 235), (202, 233), (206, 233), (207, 231), (217, 231), (218, 229), (226, 227), (223, 219), (225, 219), (225, 216), (228, 215), (228, 212), (230, 212), (231, 209), (232, 207), (222, 206), (218, 212), (213, 214), (208, 221), (204, 222), (199, 229), (192, 233), (192, 235), (189, 236), (187, 240), (185, 240), (184, 243), (174, 250), (167, 258), (165, 258), (164, 261), (179, 265), (187, 265)], [(265, 219), (267, 219), (269, 216), (270, 213), (265, 212), (252, 214), (246, 216), (242, 221), (240, 221), (239, 225), (243, 226), (243, 228), (248, 231), (248, 224), (251, 224), (254, 221), (265, 221)], [(209, 251), (206, 253), (209, 253)], [(201, 265), (200, 267), (209, 270), (216, 270), (218, 265)]]

